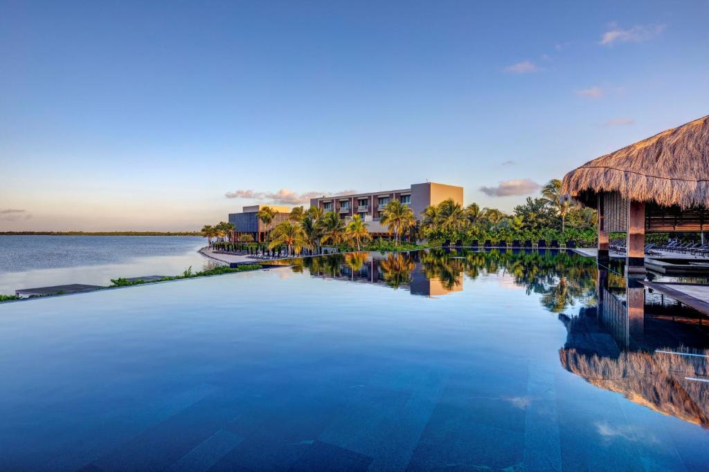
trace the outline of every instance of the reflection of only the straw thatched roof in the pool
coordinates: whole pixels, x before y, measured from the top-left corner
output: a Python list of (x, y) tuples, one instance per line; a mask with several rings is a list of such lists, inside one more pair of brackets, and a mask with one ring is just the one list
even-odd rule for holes
[[(703, 355), (709, 354), (709, 350)], [(647, 408), (709, 428), (709, 384), (685, 377), (708, 372), (704, 358), (655, 352), (622, 352), (619, 357), (586, 355), (573, 348), (559, 350), (564, 369)]]

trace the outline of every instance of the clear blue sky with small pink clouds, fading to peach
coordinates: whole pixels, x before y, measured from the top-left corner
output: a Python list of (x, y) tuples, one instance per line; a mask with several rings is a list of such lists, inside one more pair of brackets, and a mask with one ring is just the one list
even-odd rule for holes
[(427, 180), (511, 211), (707, 115), (706, 18), (709, 1), (0, 0), (0, 231), (195, 230)]

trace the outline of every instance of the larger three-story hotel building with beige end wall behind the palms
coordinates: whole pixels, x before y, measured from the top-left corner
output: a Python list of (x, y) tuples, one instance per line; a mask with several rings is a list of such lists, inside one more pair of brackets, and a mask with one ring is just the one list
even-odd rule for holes
[(325, 212), (335, 212), (343, 219), (359, 214), (368, 223), (372, 234), (388, 234), (379, 224), (381, 212), (391, 200), (399, 200), (404, 205), (411, 205), (413, 213), (420, 219), (421, 212), (429, 205), (437, 205), (452, 198), (463, 204), (463, 188), (442, 183), (415, 183), (410, 188), (399, 190), (380, 190), (379, 192), (357, 193), (352, 195), (325, 196), (311, 199), (311, 207), (320, 207)]

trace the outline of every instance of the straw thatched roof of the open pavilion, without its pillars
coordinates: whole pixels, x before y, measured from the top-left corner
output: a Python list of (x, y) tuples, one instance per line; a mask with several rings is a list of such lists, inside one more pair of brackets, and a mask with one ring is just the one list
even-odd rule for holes
[(595, 206), (596, 193), (669, 207), (709, 207), (709, 115), (588, 161), (562, 191)]

